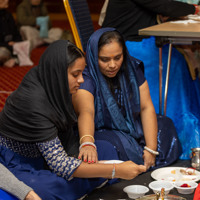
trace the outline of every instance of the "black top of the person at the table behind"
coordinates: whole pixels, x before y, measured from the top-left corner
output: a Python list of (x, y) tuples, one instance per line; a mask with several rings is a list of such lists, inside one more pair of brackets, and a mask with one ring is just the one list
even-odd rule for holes
[(144, 36), (138, 30), (157, 24), (157, 14), (181, 17), (195, 13), (195, 6), (173, 0), (109, 0), (102, 27), (114, 27), (129, 41)]

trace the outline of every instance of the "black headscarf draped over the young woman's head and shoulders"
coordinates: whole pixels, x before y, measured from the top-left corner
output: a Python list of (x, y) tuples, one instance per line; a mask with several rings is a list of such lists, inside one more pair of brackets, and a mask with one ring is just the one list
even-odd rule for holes
[(24, 77), (0, 113), (0, 134), (18, 141), (41, 142), (71, 137), (76, 115), (71, 102), (66, 40), (52, 43), (39, 65)]

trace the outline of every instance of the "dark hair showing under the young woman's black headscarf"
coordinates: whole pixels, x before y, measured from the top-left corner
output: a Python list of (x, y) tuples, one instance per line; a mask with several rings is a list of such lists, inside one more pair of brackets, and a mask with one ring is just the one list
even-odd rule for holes
[(69, 42), (67, 48), (68, 67), (72, 66), (76, 59), (82, 57), (85, 57), (84, 53), (76, 45)]

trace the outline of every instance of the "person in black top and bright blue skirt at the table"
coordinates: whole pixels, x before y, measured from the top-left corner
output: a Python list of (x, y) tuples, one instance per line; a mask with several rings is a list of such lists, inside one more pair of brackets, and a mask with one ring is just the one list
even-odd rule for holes
[[(156, 45), (159, 41), (155, 37), (138, 35), (138, 31), (156, 25), (158, 19), (162, 21), (190, 14), (199, 15), (200, 6), (174, 0), (109, 0), (107, 3), (102, 27), (118, 29), (125, 37), (129, 53), (144, 62), (152, 101), (156, 113), (159, 113), (159, 49)], [(190, 159), (190, 149), (200, 145), (199, 140), (195, 139), (196, 134), (200, 134), (200, 61), (195, 59), (191, 49), (184, 51), (192, 68), (188, 70), (184, 56), (172, 48), (166, 114), (173, 120), (181, 140), (183, 153), (180, 158)], [(162, 58), (163, 73), (166, 74), (168, 45), (162, 48)], [(164, 81), (165, 76), (163, 86)], [(188, 138), (190, 142), (186, 142)]]

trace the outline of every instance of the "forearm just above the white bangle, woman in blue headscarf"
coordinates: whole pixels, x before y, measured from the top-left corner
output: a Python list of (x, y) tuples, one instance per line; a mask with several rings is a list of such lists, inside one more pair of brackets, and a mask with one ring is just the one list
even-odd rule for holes
[(141, 111), (141, 121), (144, 131), (146, 146), (152, 150), (157, 149), (157, 117), (153, 107)]

